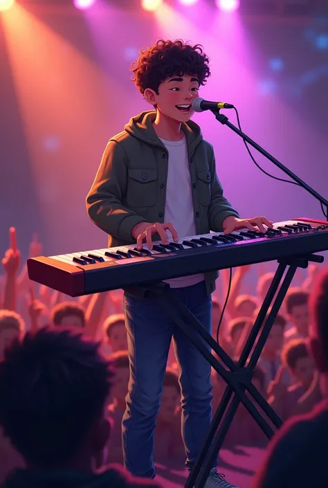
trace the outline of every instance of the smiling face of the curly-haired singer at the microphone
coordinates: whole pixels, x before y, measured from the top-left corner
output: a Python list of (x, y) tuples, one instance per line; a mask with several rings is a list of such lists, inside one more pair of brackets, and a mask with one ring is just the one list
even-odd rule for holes
[[(147, 89), (145, 98), (153, 105), (156, 105), (162, 114), (182, 123), (188, 122), (194, 114), (192, 100), (199, 96), (198, 90), (199, 80), (197, 80), (196, 76), (186, 75), (180, 77), (175, 75), (167, 78), (159, 85), (158, 95), (153, 90)], [(152, 94), (151, 99), (149, 99), (150, 94)], [(187, 107), (178, 108), (181, 105), (186, 105)]]

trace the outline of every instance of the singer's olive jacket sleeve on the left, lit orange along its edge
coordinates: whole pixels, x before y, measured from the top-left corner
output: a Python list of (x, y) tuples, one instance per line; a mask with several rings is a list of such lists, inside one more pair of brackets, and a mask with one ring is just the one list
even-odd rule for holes
[(96, 226), (118, 240), (134, 242), (131, 231), (145, 217), (122, 204), (127, 189), (127, 157), (116, 141), (109, 141), (86, 197), (86, 210)]

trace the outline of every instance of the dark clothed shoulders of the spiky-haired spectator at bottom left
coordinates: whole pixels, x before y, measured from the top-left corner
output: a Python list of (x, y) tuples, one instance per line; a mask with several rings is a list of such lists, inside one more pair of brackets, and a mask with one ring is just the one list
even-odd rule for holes
[(100, 474), (80, 471), (33, 471), (17, 469), (1, 488), (123, 488), (127, 482), (119, 469), (107, 469)]

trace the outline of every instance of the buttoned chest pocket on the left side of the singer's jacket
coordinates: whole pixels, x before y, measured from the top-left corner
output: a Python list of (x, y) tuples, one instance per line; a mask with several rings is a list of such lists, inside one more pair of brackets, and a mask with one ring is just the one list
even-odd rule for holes
[(127, 205), (131, 207), (153, 207), (157, 203), (158, 171), (128, 170)]

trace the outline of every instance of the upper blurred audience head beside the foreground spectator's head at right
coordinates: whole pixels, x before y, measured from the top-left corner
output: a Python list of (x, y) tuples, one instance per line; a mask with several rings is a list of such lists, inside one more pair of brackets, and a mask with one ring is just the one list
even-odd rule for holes
[(302, 337), (309, 335), (309, 293), (301, 288), (291, 288), (284, 300), (289, 322)]

